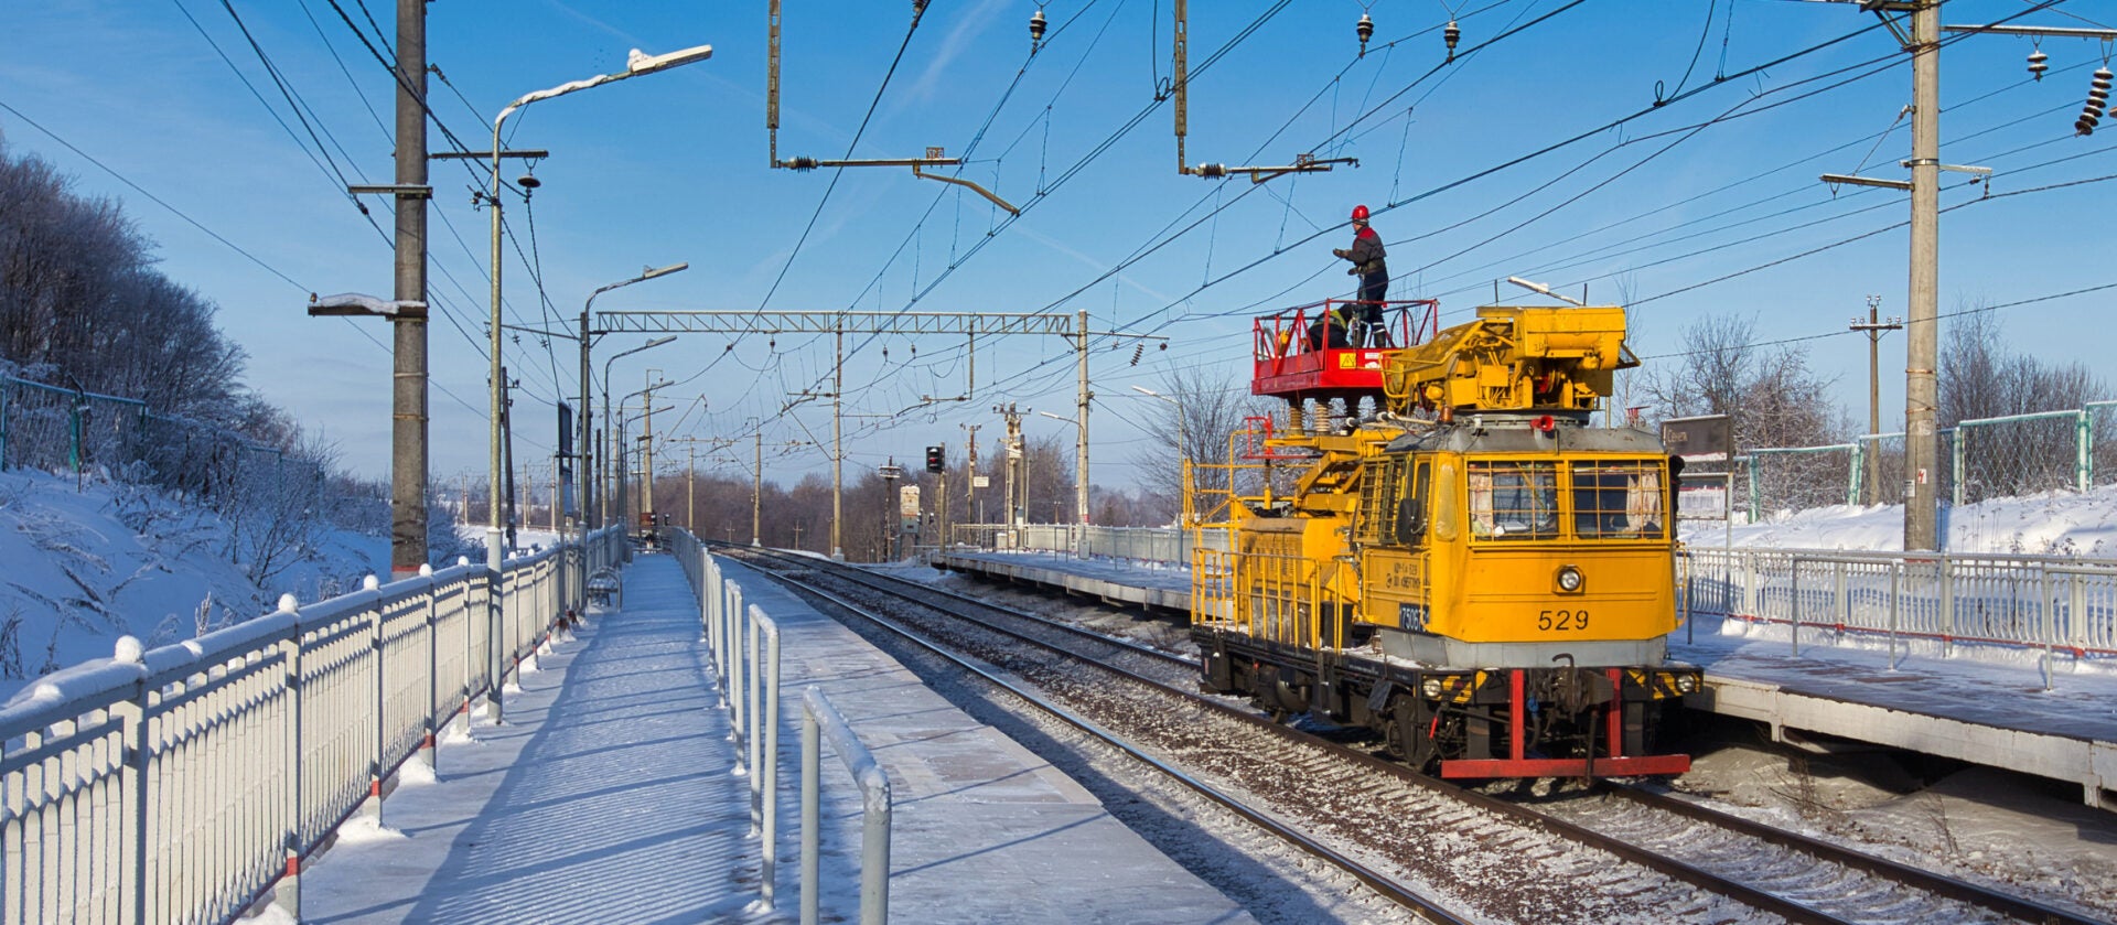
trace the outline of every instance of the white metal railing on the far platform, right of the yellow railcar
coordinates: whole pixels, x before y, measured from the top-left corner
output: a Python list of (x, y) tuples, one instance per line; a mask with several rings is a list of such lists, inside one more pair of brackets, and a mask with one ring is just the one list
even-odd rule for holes
[(1926, 639), (1948, 656), (1960, 643), (2117, 658), (2117, 561), (2026, 555), (1691, 548), (1683, 552), (1694, 614), (1789, 627), (1804, 641)]

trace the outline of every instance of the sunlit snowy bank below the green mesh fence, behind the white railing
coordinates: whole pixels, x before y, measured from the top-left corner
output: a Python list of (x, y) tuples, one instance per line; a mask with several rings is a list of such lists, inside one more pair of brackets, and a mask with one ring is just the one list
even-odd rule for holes
[[(2117, 559), (2117, 485), (1941, 508), (1941, 529), (1948, 552)], [(1719, 546), (1723, 540), (1732, 546), (1897, 552), (1903, 550), (1903, 506), (1780, 510), (1734, 529), (1721, 521), (1683, 525), (1685, 544)]]

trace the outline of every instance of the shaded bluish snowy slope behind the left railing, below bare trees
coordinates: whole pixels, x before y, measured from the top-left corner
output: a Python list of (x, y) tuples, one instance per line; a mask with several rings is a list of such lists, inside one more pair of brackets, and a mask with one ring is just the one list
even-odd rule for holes
[(318, 529), (252, 576), (241, 525), (150, 487), (0, 472), (0, 701), (28, 677), (273, 610), (282, 593), (334, 597), (387, 574), (390, 540)]

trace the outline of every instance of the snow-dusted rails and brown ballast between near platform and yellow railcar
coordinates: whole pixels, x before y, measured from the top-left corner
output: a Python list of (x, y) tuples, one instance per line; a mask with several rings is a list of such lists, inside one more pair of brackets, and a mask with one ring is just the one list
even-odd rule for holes
[(1186, 656), (809, 557), (726, 552), (1111, 741), (1427, 919), (2098, 921), (1634, 787), (1539, 804), (1463, 790), (1194, 694)]

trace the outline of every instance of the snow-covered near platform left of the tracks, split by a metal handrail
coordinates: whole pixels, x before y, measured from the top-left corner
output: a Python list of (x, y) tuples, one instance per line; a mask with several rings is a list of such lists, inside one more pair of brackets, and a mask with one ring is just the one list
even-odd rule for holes
[[(442, 741), (381, 828), (351, 823), (301, 876), (307, 923), (794, 921), (800, 692), (819, 686), (895, 796), (895, 921), (1245, 923), (1234, 902), (1025, 747), (768, 580), (722, 561), (783, 639), (779, 908), (760, 910), (726, 709), (680, 565), (639, 557), (597, 614), (506, 699), (506, 724)], [(860, 798), (824, 764), (824, 908), (857, 906)], [(830, 914), (830, 912), (826, 912)]]

